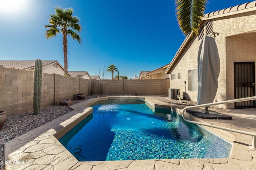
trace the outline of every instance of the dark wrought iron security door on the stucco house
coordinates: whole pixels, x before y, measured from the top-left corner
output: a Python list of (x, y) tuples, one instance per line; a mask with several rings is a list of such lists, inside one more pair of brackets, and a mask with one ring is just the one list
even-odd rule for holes
[[(255, 63), (234, 62), (235, 99), (255, 96)], [(255, 100), (236, 102), (235, 108), (255, 108)]]

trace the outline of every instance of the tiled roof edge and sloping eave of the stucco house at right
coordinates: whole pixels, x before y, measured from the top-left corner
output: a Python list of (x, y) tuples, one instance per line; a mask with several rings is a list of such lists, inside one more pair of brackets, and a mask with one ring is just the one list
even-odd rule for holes
[[(213, 18), (221, 18), (221, 17), (224, 17), (224, 16), (231, 16), (231, 15), (240, 14), (240, 13), (244, 13), (244, 12), (255, 11), (255, 10), (256, 10), (256, 1), (247, 2), (247, 3), (240, 4), (240, 5), (237, 5), (237, 6), (233, 6), (233, 7), (230, 7), (230, 8), (225, 8), (223, 10), (218, 10), (218, 11), (214, 11), (214, 12), (204, 14), (204, 17), (202, 18), (202, 21), (211, 20)], [(190, 35), (188, 35), (184, 39), (184, 41), (181, 44), (180, 48), (178, 49), (177, 53), (174, 55), (170, 65), (166, 69), (166, 72), (165, 72), (166, 74), (168, 74), (168, 72), (170, 72), (170, 69), (172, 68), (173, 64), (177, 61), (177, 59), (180, 57), (180, 55), (182, 54), (184, 49), (186, 49), (186, 45), (191, 40), (192, 40), (192, 33), (190, 33)]]

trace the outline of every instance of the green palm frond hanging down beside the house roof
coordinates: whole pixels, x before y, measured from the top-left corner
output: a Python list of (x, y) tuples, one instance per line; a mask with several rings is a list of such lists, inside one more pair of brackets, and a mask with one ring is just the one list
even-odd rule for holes
[(207, 0), (175, 0), (176, 16), (184, 35), (198, 35)]

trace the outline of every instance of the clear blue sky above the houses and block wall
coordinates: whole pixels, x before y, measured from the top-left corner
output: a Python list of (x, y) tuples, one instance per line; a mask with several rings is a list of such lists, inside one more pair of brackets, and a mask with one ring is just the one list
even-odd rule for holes
[[(246, 2), (208, 0), (205, 13)], [(82, 25), (82, 45), (68, 39), (69, 71), (97, 75), (115, 64), (130, 79), (170, 63), (185, 38), (174, 0), (0, 0), (0, 60), (57, 60), (64, 66), (62, 35), (44, 37), (56, 6), (73, 8)]]

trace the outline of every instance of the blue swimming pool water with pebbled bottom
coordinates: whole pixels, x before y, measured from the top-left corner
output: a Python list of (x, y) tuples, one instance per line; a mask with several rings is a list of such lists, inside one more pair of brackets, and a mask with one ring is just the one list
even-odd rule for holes
[(143, 99), (106, 100), (60, 139), (79, 161), (225, 158), (231, 144)]

